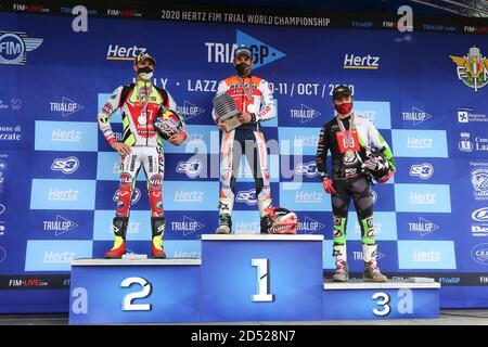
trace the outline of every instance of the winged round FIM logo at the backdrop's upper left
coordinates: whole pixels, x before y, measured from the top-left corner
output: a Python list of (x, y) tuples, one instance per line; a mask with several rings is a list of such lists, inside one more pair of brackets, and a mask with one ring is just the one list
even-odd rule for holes
[(28, 38), (26, 33), (0, 31), (0, 64), (25, 65), (27, 52), (42, 44), (43, 39)]

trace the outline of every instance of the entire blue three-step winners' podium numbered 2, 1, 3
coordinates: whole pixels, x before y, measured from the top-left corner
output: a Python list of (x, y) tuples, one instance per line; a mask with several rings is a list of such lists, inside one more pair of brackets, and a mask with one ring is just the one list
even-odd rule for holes
[(440, 284), (323, 282), (322, 235), (204, 234), (202, 259), (77, 259), (69, 324), (439, 317)]

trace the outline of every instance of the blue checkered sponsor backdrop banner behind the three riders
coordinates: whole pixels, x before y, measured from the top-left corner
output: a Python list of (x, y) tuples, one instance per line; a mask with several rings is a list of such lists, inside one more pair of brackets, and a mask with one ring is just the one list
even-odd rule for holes
[[(201, 256), (200, 235), (218, 223), (211, 100), (234, 73), (241, 44), (252, 48), (254, 74), (270, 82), (278, 104), (264, 127), (273, 203), (297, 213), (299, 233), (325, 236), (324, 272), (334, 267), (332, 214), (314, 154), (320, 127), (334, 116), (331, 92), (348, 85), (355, 110), (376, 125), (398, 166), (394, 182), (373, 187), (381, 268), (391, 278), (441, 281), (442, 307), (488, 307), (486, 36), (116, 16), (89, 16), (87, 31), (74, 31), (72, 15), (27, 10), (0, 13), (1, 312), (67, 311), (70, 259), (102, 257), (111, 246), (118, 158), (95, 116), (113, 90), (132, 81), (139, 52), (156, 57), (154, 83), (175, 98), (189, 130), (184, 145), (164, 143), (165, 245), (171, 257)], [(120, 139), (120, 115), (112, 119)], [(147, 253), (142, 172), (136, 188), (128, 247)], [(352, 206), (350, 215), (348, 258), (358, 273)], [(257, 221), (243, 162), (235, 232), (258, 232)], [(50, 295), (28, 299), (39, 291)]]

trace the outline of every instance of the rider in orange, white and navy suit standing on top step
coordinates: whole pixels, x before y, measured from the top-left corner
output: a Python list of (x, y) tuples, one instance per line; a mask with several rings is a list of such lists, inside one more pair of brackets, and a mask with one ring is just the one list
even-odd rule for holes
[(233, 64), (237, 74), (220, 81), (217, 95), (228, 93), (234, 99), (237, 111), (242, 112), (240, 116), (242, 125), (226, 131), (215, 108), (211, 113), (214, 120), (223, 131), (220, 150), (219, 227), (216, 232), (227, 234), (232, 230), (234, 185), (239, 176), (241, 157), (245, 154), (256, 183), (261, 233), (268, 233), (272, 221), (266, 209), (271, 206), (271, 191), (268, 153), (265, 137), (260, 131), (260, 121), (275, 117), (277, 108), (269, 83), (262, 78), (251, 75), (253, 65), (251, 50), (245, 47), (236, 49)]

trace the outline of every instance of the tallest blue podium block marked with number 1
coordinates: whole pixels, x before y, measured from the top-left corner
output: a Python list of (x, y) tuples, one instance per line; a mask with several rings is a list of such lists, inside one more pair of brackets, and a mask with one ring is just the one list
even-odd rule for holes
[(322, 235), (202, 235), (202, 322), (320, 321)]

